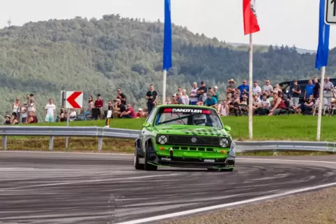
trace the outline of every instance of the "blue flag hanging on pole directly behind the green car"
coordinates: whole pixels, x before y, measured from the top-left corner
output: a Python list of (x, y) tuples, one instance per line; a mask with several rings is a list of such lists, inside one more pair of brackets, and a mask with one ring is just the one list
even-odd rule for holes
[(171, 15), (170, 0), (165, 0), (165, 37), (163, 40), (163, 70), (169, 70), (171, 62)]

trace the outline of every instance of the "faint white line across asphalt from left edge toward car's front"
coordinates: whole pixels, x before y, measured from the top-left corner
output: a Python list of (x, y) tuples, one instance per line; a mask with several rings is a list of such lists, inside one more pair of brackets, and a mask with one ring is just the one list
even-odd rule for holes
[(52, 183), (52, 184), (37, 184), (37, 185), (29, 185), (29, 186), (18, 186), (10, 189), (0, 189), (0, 191), (8, 191), (8, 190), (17, 190), (17, 189), (26, 189), (26, 188), (34, 188), (38, 186), (62, 186), (68, 184), (82, 184), (82, 183), (94, 183), (94, 182), (108, 182), (114, 180), (129, 180), (129, 179), (145, 179), (151, 177), (167, 177), (167, 176), (176, 176), (179, 175), (177, 173), (167, 174), (167, 175), (151, 175), (151, 176), (142, 176), (142, 177), (123, 177), (123, 178), (111, 178), (111, 179), (88, 179), (88, 180), (79, 180), (77, 182), (60, 182), (60, 183)]

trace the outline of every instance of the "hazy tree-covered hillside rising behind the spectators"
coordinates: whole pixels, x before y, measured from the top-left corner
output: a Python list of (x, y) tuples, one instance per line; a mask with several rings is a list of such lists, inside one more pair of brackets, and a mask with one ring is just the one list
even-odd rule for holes
[[(220, 28), (219, 28), (220, 29)], [(228, 31), (229, 32), (229, 31)], [(234, 48), (216, 38), (173, 26), (173, 65), (167, 94), (192, 81), (208, 81), (220, 91), (228, 79), (248, 76), (246, 47)], [(149, 83), (162, 93), (162, 22), (105, 15), (102, 19), (29, 22), (0, 30), (1, 111), (10, 112), (18, 95), (34, 93), (39, 115), (49, 97), (59, 106), (61, 90), (100, 93), (105, 99), (122, 88), (130, 102), (144, 103)], [(336, 49), (330, 51), (327, 74), (336, 71)], [(261, 47), (254, 52), (254, 79), (272, 83), (318, 74), (315, 54), (298, 54), (295, 47)], [(141, 99), (141, 100), (140, 100)], [(85, 105), (86, 106), (86, 105)], [(144, 106), (144, 105), (143, 105)], [(40, 117), (41, 120), (42, 117)]]

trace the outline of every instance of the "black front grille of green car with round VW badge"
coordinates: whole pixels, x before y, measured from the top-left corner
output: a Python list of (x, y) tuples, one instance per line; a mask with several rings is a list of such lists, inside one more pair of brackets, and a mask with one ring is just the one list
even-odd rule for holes
[(204, 136), (168, 136), (167, 144), (219, 146), (220, 138)]

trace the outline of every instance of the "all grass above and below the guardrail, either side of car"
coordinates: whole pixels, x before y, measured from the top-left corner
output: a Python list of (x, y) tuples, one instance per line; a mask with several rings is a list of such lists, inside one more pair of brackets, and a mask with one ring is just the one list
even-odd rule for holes
[[(247, 117), (224, 117), (224, 125), (231, 127), (231, 135), (236, 141), (248, 140)], [(112, 119), (110, 127), (122, 129), (141, 129), (144, 119)], [(38, 123), (34, 126), (66, 126), (66, 122)], [(75, 121), (70, 122), (75, 126), (103, 127), (105, 120)], [(321, 127), (322, 141), (335, 141), (335, 117), (323, 117)], [(317, 129), (317, 116), (289, 115), (289, 116), (255, 116), (253, 118), (254, 141), (288, 140), (288, 141), (315, 141)], [(54, 138), (54, 150), (65, 150), (66, 138)], [(97, 138), (69, 138), (68, 152), (97, 152)], [(8, 150), (48, 150), (49, 138), (47, 137), (9, 137)], [(123, 139), (105, 138), (102, 152), (132, 153), (134, 141)], [(318, 155), (330, 154), (329, 152), (278, 152), (277, 155)], [(271, 156), (273, 152), (244, 153), (244, 155)]]

